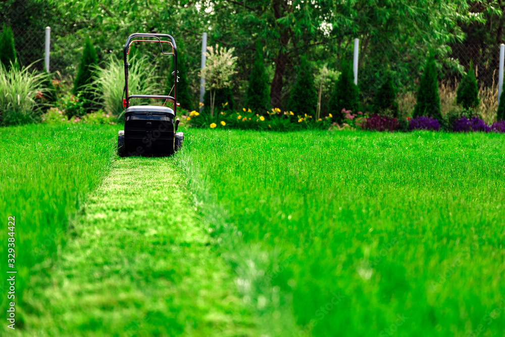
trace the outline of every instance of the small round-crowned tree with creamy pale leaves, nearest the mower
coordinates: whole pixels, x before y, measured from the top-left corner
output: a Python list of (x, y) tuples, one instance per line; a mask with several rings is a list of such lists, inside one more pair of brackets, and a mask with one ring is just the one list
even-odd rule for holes
[[(237, 61), (237, 57), (233, 56), (235, 48), (220, 48), (219, 45), (216, 44), (215, 51), (212, 46), (207, 47), (207, 50), (206, 65), (204, 69), (201, 70), (200, 76), (205, 78), (205, 86), (209, 90), (208, 97), (211, 117), (214, 117), (216, 93), (218, 90), (224, 90), (226, 87), (230, 86), (230, 77), (236, 73), (235, 63)], [(222, 100), (222, 98), (218, 96), (218, 100)]]

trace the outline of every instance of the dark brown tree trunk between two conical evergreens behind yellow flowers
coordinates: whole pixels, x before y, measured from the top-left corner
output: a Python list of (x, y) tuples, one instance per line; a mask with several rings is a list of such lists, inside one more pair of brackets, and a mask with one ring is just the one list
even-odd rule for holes
[[(274, 0), (274, 16), (275, 19), (279, 19), (283, 14), (283, 4), (282, 0)], [(272, 81), (272, 86), (270, 88), (270, 104), (274, 108), (278, 108), (281, 103), (281, 93), (282, 87), (284, 85), (284, 70), (286, 69), (287, 63), (287, 43), (289, 42), (289, 29), (280, 28), (280, 38), (279, 38), (279, 53), (275, 58), (275, 73), (274, 79)]]

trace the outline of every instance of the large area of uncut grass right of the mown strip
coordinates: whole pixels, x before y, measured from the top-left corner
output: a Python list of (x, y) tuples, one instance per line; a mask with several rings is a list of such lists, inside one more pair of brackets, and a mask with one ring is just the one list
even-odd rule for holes
[(503, 335), (503, 143), (192, 129), (177, 158), (268, 335)]

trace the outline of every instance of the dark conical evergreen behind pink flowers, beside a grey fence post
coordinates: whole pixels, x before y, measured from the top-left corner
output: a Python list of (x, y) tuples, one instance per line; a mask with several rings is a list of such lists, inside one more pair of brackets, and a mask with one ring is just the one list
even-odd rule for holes
[(354, 84), (354, 72), (352, 64), (343, 61), (340, 77), (335, 83), (333, 95), (330, 99), (330, 113), (333, 114), (335, 120), (342, 122), (341, 111), (343, 109), (357, 112), (360, 105), (360, 89)]

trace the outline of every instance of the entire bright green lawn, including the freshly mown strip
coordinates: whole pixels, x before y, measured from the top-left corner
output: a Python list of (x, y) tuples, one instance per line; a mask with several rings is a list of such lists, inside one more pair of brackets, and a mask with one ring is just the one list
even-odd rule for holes
[(116, 129), (0, 129), (18, 335), (504, 335), (501, 135)]

